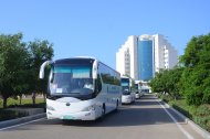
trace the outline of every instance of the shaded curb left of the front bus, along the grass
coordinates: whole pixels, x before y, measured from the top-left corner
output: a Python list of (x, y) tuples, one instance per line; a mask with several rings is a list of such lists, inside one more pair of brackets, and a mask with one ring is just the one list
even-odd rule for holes
[(46, 117), (45, 113), (36, 114), (33, 116), (21, 117), (21, 118), (17, 118), (17, 119), (11, 119), (11, 120), (6, 120), (6, 121), (0, 121), (0, 129), (6, 128), (6, 127), (10, 127), (10, 126), (14, 126), (14, 125), (19, 125), (19, 124), (23, 124), (23, 122), (28, 122), (31, 120), (44, 118), (44, 117)]

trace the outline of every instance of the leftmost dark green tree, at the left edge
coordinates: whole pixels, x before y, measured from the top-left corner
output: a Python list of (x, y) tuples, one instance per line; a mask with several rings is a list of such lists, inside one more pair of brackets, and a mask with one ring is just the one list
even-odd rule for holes
[[(3, 107), (7, 107), (7, 99), (15, 96), (27, 84), (22, 78), (25, 73), (25, 60), (28, 52), (22, 41), (22, 33), (14, 35), (0, 35), (0, 95), (3, 98)], [(27, 83), (27, 82), (24, 82)]]

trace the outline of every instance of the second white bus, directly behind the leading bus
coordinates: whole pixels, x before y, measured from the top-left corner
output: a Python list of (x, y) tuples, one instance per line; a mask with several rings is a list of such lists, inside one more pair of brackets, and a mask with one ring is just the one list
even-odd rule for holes
[(132, 92), (132, 78), (122, 76), (122, 104), (132, 104), (135, 101), (135, 92)]

